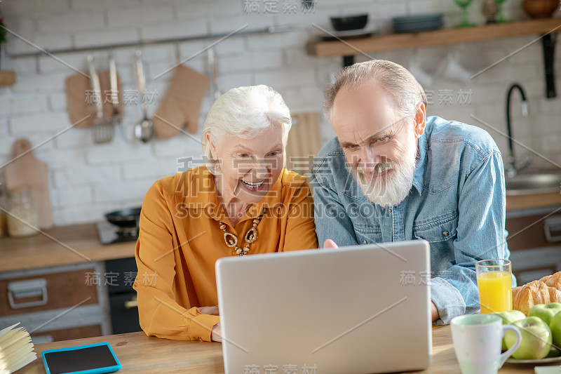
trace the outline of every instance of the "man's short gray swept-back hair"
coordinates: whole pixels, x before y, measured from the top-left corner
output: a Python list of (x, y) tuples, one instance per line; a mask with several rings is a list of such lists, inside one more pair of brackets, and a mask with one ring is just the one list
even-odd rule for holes
[(341, 88), (353, 90), (369, 79), (377, 81), (391, 95), (396, 110), (403, 116), (413, 116), (419, 102), (426, 107), (424, 90), (409, 70), (396, 62), (370, 60), (345, 67), (335, 75), (335, 82), (327, 85), (323, 93), (323, 112), (327, 119), (331, 121), (333, 102)]

